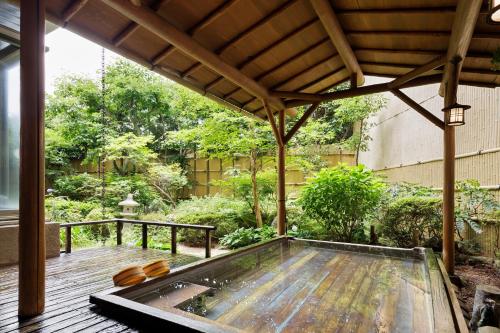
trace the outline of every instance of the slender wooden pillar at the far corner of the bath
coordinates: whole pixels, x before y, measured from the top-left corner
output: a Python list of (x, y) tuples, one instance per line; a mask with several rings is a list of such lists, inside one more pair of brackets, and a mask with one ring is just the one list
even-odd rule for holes
[[(285, 110), (278, 113), (278, 133), (285, 137)], [(278, 235), (286, 233), (286, 208), (285, 208), (285, 145), (278, 141)]]

